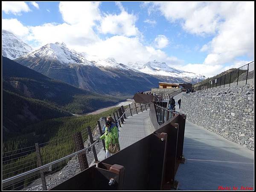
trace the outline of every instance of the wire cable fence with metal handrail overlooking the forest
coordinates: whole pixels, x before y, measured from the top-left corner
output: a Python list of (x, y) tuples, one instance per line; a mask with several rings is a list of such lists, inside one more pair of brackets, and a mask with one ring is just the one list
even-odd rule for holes
[[(126, 108), (125, 110), (124, 108), (119, 108), (118, 111), (115, 111), (115, 114), (116, 114), (115, 119), (119, 123), (120, 121), (124, 121), (125, 114), (129, 116), (128, 115), (129, 109), (132, 109), (133, 111), (138, 111), (138, 108), (141, 108), (141, 109), (144, 108), (145, 110), (147, 110), (145, 105), (136, 106), (137, 110), (133, 108), (129, 108), (128, 106), (126, 106), (125, 108)], [(135, 114), (135, 112), (131, 113), (130, 115), (132, 114)], [(99, 119), (100, 125), (102, 127), (105, 125), (105, 120), (106, 118)], [(51, 178), (50, 176), (52, 174), (55, 174), (56, 172), (62, 169), (65, 169), (68, 166), (71, 166), (71, 164), (76, 167), (76, 172), (80, 171), (77, 154), (82, 152), (86, 154), (86, 151), (87, 151), (88, 152), (87, 156), (92, 156), (92, 158), (90, 158), (89, 160), (90, 162), (88, 161), (88, 163), (92, 163), (92, 161), (94, 160), (94, 157), (91, 149), (95, 145), (100, 144), (99, 145), (100, 148), (102, 148), (103, 145), (99, 143), (99, 140), (94, 140), (96, 137), (100, 136), (98, 123), (94, 123), (90, 127), (91, 127), (91, 131), (93, 132), (92, 137), (94, 137), (93, 138), (94, 143), (92, 144), (90, 143), (90, 140), (88, 138), (89, 137), (88, 129), (84, 128), (83, 130), (81, 130), (81, 136), (82, 136), (82, 140), (84, 141), (84, 145), (87, 144), (88, 146), (85, 147), (83, 150), (80, 150), (79, 152), (78, 151), (74, 152), (76, 151), (76, 146), (74, 143), (73, 135), (68, 135), (55, 140), (51, 140), (49, 142), (38, 144), (40, 148), (39, 159), (38, 159), (38, 154), (35, 146), (13, 150), (12, 152), (14, 152), (15, 154), (12, 154), (11, 151), (7, 151), (3, 153), (2, 160), (3, 158), (7, 158), (7, 159), (9, 158), (9, 159), (8, 160), (5, 159), (5, 161), (3, 161), (2, 189), (3, 190), (21, 190), (21, 189), (24, 190), (24, 189), (29, 189), (29, 187), (31, 188), (32, 186), (38, 186), (38, 185), (42, 186), (42, 181), (40, 179), (40, 177), (42, 178), (42, 175), (41, 175), (42, 172), (44, 174), (44, 177), (47, 176), (45, 178), (45, 181), (47, 182), (47, 187), (48, 188), (52, 187), (52, 184), (51, 184), (52, 181), (50, 180)], [(31, 150), (31, 148), (33, 149)], [(54, 151), (58, 151), (57, 154), (56, 153), (51, 154), (49, 152), (51, 151), (51, 148), (54, 148)], [(26, 150), (22, 152), (21, 150), (24, 150), (24, 149), (30, 149), (30, 150)], [(24, 153), (26, 153), (26, 155), (23, 155)], [(19, 157), (19, 155), (21, 156)], [(15, 158), (12, 158), (12, 157), (15, 157)], [(72, 161), (70, 165), (68, 165), (69, 161)], [(72, 176), (73, 174), (71, 174), (69, 170), (64, 175)], [(37, 187), (36, 189), (42, 190), (43, 187)]]

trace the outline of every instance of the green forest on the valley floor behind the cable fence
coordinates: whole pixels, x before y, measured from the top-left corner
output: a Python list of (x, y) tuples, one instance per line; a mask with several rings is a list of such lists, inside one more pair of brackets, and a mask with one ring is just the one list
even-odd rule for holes
[[(90, 126), (93, 131), (100, 117), (113, 114), (116, 109), (117, 108), (112, 108), (96, 115), (47, 119), (27, 126), (17, 137), (7, 138), (2, 142), (2, 152), (5, 154), (3, 155), (3, 178), (8, 178), (36, 167), (35, 161), (32, 161), (36, 160), (34, 150), (26, 153), (22, 153), (22, 150), (16, 151), (15, 153), (19, 154), (17, 156), (12, 155), (11, 159), (14, 160), (11, 161), (9, 160), (10, 157), (7, 157), (10, 155), (6, 153), (7, 151), (14, 151), (39, 143), (43, 164), (60, 159), (61, 157), (75, 152), (73, 133), (82, 131), (83, 140), (86, 140), (88, 138), (86, 131), (87, 126)], [(33, 149), (33, 147), (31, 148)], [(19, 170), (13, 168), (15, 166), (18, 166)], [(57, 168), (58, 167), (56, 167), (56, 169)]]

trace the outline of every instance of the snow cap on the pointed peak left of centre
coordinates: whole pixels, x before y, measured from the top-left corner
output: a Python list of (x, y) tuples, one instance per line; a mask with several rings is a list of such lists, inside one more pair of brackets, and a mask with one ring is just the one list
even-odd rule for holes
[(56, 42), (55, 44), (46, 44), (27, 55), (23, 58), (47, 58), (52, 60), (60, 61), (62, 64), (83, 64), (83, 65), (93, 65), (92, 62), (87, 61), (84, 54), (76, 52), (75, 50), (70, 50), (67, 48), (66, 44)]

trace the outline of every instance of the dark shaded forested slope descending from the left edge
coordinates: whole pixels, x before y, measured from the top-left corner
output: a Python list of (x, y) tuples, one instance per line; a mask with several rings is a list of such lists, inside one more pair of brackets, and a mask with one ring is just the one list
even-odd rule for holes
[(2, 57), (3, 140), (45, 119), (85, 114), (122, 99), (48, 78)]

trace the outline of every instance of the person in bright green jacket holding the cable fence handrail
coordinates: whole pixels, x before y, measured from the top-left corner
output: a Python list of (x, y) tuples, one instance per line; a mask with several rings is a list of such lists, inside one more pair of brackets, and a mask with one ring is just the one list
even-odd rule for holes
[(109, 151), (109, 147), (111, 144), (115, 145), (117, 144), (119, 146), (120, 151), (120, 145), (119, 145), (119, 134), (118, 129), (116, 127), (116, 124), (114, 124), (111, 120), (107, 120), (105, 123), (105, 133), (99, 137), (100, 140), (105, 140), (105, 149), (106, 154), (105, 158), (108, 158), (112, 155), (112, 153)]

